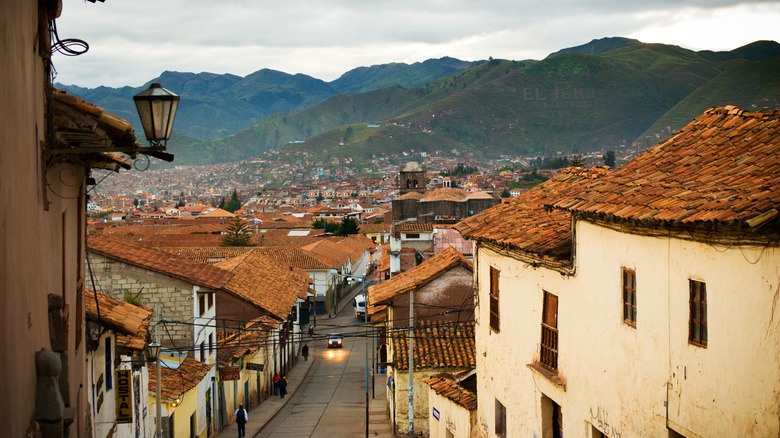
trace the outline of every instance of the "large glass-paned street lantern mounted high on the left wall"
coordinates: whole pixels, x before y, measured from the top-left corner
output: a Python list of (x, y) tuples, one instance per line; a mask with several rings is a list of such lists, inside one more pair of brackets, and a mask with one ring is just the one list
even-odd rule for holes
[(144, 128), (144, 136), (151, 146), (165, 149), (171, 138), (173, 119), (179, 107), (179, 96), (155, 82), (146, 90), (133, 96), (138, 117)]

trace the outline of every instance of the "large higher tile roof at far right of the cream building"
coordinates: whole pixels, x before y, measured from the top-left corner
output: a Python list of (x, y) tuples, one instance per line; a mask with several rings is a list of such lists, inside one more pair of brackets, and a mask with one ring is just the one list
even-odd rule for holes
[(760, 225), (780, 209), (780, 111), (716, 107), (556, 208), (616, 219)]

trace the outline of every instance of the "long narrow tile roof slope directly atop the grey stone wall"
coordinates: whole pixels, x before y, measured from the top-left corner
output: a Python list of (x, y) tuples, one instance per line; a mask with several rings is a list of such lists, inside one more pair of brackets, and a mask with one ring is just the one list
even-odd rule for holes
[(229, 272), (212, 265), (145, 248), (128, 240), (103, 233), (90, 234), (87, 237), (87, 248), (114, 260), (211, 289), (221, 288), (232, 276)]

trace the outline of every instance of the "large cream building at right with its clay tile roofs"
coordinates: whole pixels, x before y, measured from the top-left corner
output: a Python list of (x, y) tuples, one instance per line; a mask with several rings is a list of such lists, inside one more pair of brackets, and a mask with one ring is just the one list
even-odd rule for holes
[(777, 436), (778, 163), (780, 112), (713, 108), (458, 224), (478, 435)]

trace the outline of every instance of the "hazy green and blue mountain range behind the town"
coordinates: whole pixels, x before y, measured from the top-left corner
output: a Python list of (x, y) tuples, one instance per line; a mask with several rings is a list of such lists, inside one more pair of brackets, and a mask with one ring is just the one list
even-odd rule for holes
[[(780, 44), (691, 51), (602, 38), (543, 60), (453, 58), (351, 70), (332, 82), (259, 70), (165, 72), (182, 100), (169, 149), (179, 164), (269, 149), (360, 160), (407, 151), (476, 157), (649, 146), (712, 106), (780, 108)], [(55, 84), (137, 124), (146, 87)], [(142, 132), (136, 129), (136, 132)]]

